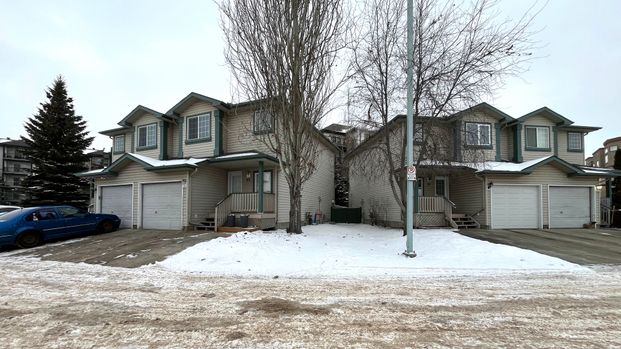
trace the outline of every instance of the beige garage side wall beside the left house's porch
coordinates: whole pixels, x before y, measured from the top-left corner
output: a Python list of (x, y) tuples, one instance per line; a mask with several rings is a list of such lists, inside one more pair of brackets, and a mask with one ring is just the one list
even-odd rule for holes
[(216, 167), (201, 166), (190, 176), (190, 221), (200, 222), (214, 216), (214, 209), (227, 193), (227, 172)]

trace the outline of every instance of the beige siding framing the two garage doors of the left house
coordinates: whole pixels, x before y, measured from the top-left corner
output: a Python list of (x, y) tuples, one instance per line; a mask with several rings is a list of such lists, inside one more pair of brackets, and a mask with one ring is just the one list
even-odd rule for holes
[[(97, 193), (95, 197), (99, 197), (99, 186), (102, 185), (124, 185), (124, 184), (133, 184), (134, 192), (133, 192), (133, 203), (132, 203), (132, 215), (133, 222), (132, 225), (138, 228), (141, 227), (141, 202), (140, 198), (142, 196), (141, 192), (141, 184), (143, 183), (157, 183), (157, 182), (180, 182), (182, 180), (187, 181), (188, 172), (187, 171), (174, 171), (174, 172), (152, 172), (145, 171), (141, 165), (137, 163), (131, 162), (124, 168), (118, 171), (118, 176), (110, 177), (106, 179), (96, 179), (95, 185), (97, 186)], [(182, 186), (182, 196), (183, 196), (183, 226), (188, 225), (187, 219), (187, 188), (186, 186)], [(99, 212), (100, 202), (97, 200), (97, 211)]]

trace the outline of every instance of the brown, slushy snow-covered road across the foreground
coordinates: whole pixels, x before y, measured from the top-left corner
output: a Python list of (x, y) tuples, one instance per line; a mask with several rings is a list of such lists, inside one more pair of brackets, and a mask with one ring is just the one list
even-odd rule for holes
[(0, 257), (0, 348), (615, 348), (621, 272), (244, 279)]

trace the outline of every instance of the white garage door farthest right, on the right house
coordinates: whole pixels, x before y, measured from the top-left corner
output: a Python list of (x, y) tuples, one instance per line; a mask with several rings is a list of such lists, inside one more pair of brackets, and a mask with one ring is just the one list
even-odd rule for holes
[(550, 228), (582, 228), (590, 222), (589, 187), (550, 187)]

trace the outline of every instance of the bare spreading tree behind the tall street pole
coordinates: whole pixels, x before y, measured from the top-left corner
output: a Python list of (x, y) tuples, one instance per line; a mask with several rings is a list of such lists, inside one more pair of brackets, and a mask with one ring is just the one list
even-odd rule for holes
[[(438, 134), (443, 121), (492, 96), (506, 77), (523, 71), (531, 59), (534, 46), (529, 27), (534, 14), (529, 11), (515, 21), (499, 21), (496, 5), (492, 0), (464, 4), (414, 0), (413, 104), (415, 138), (420, 141), (414, 154), (416, 165), (422, 160), (454, 159), (451, 137)], [(359, 123), (381, 132), (350, 166), (367, 178), (389, 178), (405, 217), (406, 137), (404, 127), (391, 127), (396, 112), (406, 104), (405, 5), (368, 0), (364, 13), (359, 21), (364, 30), (352, 50), (352, 90), (357, 105), (364, 106)], [(472, 162), (481, 152), (460, 156)]]

